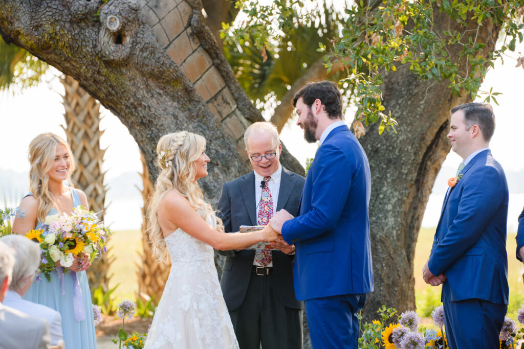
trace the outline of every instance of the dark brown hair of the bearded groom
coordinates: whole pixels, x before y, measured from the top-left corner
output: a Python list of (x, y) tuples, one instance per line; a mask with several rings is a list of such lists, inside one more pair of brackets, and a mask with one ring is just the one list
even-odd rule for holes
[(311, 108), (315, 99), (320, 99), (330, 119), (342, 119), (342, 95), (334, 82), (318, 81), (305, 85), (294, 95), (293, 107), (297, 106), (297, 100), (300, 97), (309, 108)]

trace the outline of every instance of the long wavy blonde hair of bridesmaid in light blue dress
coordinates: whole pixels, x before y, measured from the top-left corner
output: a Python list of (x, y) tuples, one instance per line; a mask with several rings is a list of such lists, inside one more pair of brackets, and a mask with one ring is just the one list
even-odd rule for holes
[(74, 164), (73, 153), (66, 141), (57, 134), (46, 132), (39, 134), (29, 144), (29, 188), (32, 195), (38, 201), (37, 218), (40, 222), (46, 220), (47, 213), (51, 208), (54, 207), (58, 209), (53, 195), (49, 192), (48, 174), (51, 167), (53, 167), (58, 145), (63, 145), (69, 154), (71, 165), (69, 166), (68, 182), (69, 185), (74, 188), (70, 176), (76, 166)]

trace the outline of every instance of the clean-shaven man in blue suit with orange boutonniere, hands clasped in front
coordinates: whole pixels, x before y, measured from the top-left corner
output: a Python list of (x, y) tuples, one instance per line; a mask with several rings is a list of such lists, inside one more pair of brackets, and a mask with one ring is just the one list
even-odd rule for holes
[(468, 103), (451, 109), (452, 150), (464, 161), (448, 182), (424, 281), (442, 285), (450, 349), (498, 348), (508, 305), (508, 185), (488, 149), (493, 109)]

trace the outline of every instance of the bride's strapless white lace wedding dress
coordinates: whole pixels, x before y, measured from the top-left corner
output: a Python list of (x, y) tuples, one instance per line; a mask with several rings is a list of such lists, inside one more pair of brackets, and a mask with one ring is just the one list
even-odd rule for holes
[[(211, 226), (212, 221), (208, 218)], [(238, 348), (213, 247), (180, 228), (165, 240), (171, 271), (144, 349)]]

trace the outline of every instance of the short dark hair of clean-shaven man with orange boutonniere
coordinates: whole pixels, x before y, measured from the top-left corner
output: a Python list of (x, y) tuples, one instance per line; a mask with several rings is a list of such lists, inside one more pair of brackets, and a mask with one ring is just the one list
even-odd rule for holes
[(464, 112), (466, 130), (469, 130), (473, 125), (478, 125), (484, 140), (486, 142), (491, 140), (493, 132), (495, 132), (495, 114), (493, 114), (493, 108), (489, 103), (473, 102), (461, 104), (451, 109), (451, 114), (457, 110)]

